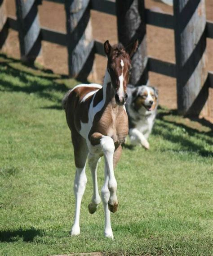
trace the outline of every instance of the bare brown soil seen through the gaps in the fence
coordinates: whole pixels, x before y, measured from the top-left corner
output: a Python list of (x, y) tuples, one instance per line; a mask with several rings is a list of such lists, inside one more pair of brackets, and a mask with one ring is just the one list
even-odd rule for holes
[[(7, 12), (15, 16), (15, 0), (7, 0)], [(173, 14), (171, 6), (160, 3), (158, 0), (145, 0), (146, 8), (164, 11)], [(64, 5), (43, 1), (39, 6), (40, 24), (54, 30), (66, 32), (66, 16)], [(206, 0), (206, 16), (213, 20), (213, 0)], [(117, 43), (116, 17), (91, 11), (93, 37), (99, 41), (109, 40)], [(147, 25), (148, 55), (165, 61), (175, 62), (174, 32), (170, 29)], [(4, 50), (14, 58), (20, 58), (18, 33), (10, 31)], [(54, 73), (68, 74), (67, 48), (56, 44), (42, 42), (44, 67), (52, 69)], [(208, 70), (213, 70), (213, 40), (207, 39)], [(96, 55), (95, 66), (97, 81), (102, 82), (106, 69), (106, 58)], [(160, 105), (169, 109), (177, 109), (176, 80), (157, 73), (149, 73), (150, 84), (159, 89)], [(209, 89), (209, 117), (213, 121), (213, 89)]]

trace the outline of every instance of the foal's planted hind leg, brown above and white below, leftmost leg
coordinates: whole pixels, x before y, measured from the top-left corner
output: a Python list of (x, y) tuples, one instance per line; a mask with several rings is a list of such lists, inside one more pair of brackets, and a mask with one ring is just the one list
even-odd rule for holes
[[(77, 135), (76, 135), (77, 136)], [(88, 155), (88, 147), (83, 137), (72, 136), (72, 142), (74, 146), (75, 154), (75, 181), (74, 181), (74, 193), (75, 193), (75, 220), (71, 229), (71, 235), (78, 235), (80, 233), (80, 205), (86, 188), (86, 159)]]

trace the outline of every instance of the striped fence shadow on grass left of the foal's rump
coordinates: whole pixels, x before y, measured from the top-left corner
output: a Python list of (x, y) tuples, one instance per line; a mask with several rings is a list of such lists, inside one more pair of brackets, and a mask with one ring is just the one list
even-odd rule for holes
[[(0, 89), (0, 91), (16, 91), (25, 92), (28, 94), (35, 93), (41, 98), (45, 98), (55, 102), (57, 104), (55, 108), (61, 109), (60, 106), (62, 98), (53, 95), (52, 92), (58, 91), (66, 93), (70, 88), (67, 87), (65, 83), (58, 83), (54, 80), (68, 78), (67, 76), (55, 75), (52, 74), (49, 70), (38, 69), (35, 66), (27, 66), (20, 64), (18, 60), (7, 58), (5, 55), (0, 54), (0, 57), (3, 58), (3, 60), (0, 60), (0, 65), (2, 67), (6, 67), (6, 69), (1, 71), (1, 73), (4, 74), (5, 77), (8, 75), (14, 77), (14, 79), (18, 78), (19, 81), (24, 84), (23, 86), (19, 86), (16, 84), (15, 80), (14, 82), (9, 82), (7, 81), (7, 79), (4, 79), (3, 76), (2, 78), (0, 78), (0, 84), (3, 87), (3, 89)], [(19, 66), (15, 67), (14, 64), (18, 64)], [(33, 71), (29, 68), (35, 69), (38, 72), (33, 73)], [(50, 73), (51, 76), (49, 75)], [(29, 79), (29, 76), (32, 79)], [(41, 80), (38, 80), (36, 78), (44, 79), (44, 84), (42, 84)], [(51, 107), (51, 109), (55, 108), (53, 106)]]

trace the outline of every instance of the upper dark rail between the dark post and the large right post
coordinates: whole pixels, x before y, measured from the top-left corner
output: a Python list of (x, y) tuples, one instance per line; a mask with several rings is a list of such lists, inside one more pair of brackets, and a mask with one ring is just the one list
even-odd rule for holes
[(155, 11), (151, 11), (150, 9), (146, 9), (146, 24), (157, 26), (157, 27), (164, 27), (173, 29), (173, 15), (159, 13)]

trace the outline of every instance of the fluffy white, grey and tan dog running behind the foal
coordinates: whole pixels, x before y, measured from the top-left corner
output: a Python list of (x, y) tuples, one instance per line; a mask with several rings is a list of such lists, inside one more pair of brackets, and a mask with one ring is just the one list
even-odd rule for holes
[(149, 149), (147, 141), (158, 107), (158, 90), (151, 86), (127, 87), (126, 110), (129, 117), (129, 138), (132, 145), (141, 145)]

